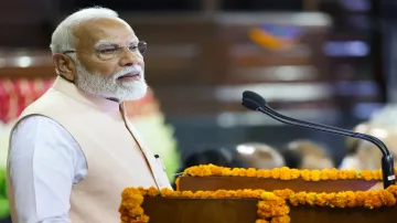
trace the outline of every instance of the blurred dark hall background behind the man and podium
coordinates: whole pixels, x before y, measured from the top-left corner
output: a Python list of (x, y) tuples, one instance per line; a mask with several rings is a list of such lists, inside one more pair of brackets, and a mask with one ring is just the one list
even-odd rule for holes
[[(92, 6), (116, 10), (148, 42), (151, 91), (129, 104), (130, 118), (151, 149), (164, 157), (171, 180), (192, 164), (260, 168), (269, 157), (273, 164), (264, 168), (308, 168), (325, 158), (329, 164), (314, 168), (342, 167), (354, 156), (371, 162), (367, 169), (378, 167), (377, 159), (372, 163), (374, 156), (358, 152), (357, 141), (247, 110), (240, 105), (246, 89), (285, 115), (372, 134), (393, 147), (397, 17), (391, 12), (397, 1), (3, 0), (2, 164), (18, 115), (55, 78), (52, 32), (66, 15)], [(373, 124), (376, 114), (382, 118)], [(321, 150), (320, 157), (307, 159), (310, 149), (297, 149), (301, 147), (318, 148), (313, 150)], [(270, 156), (259, 155), (268, 150)], [(254, 164), (253, 158), (261, 161)], [(309, 164), (302, 166), (305, 159)]]

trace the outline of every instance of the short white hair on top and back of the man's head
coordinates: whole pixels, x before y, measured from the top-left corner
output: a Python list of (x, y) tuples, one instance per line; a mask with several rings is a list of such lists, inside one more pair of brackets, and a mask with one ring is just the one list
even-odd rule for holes
[(50, 49), (53, 54), (63, 53), (68, 50), (74, 50), (75, 46), (75, 36), (74, 29), (82, 24), (83, 22), (93, 20), (93, 19), (118, 19), (119, 15), (116, 11), (101, 7), (93, 7), (82, 9), (63, 20), (51, 38)]

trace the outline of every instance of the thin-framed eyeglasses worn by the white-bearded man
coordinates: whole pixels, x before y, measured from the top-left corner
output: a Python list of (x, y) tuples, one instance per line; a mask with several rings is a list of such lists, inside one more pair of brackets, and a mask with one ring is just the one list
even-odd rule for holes
[[(95, 49), (95, 53), (97, 54), (97, 56), (100, 60), (106, 61), (106, 60), (111, 60), (111, 59), (119, 56), (124, 47), (127, 47), (132, 53), (139, 52), (140, 54), (144, 54), (144, 52), (148, 49), (148, 44), (144, 41), (139, 41), (137, 44), (125, 45), (125, 46), (117, 45), (117, 44), (103, 44)], [(76, 52), (77, 51), (75, 51), (75, 50), (69, 50), (69, 51), (63, 52), (63, 54), (76, 53)]]

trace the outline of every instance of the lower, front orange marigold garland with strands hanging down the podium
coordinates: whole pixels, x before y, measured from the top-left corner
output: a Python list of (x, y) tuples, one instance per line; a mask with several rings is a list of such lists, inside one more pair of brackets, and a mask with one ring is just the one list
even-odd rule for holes
[(236, 190), (236, 191), (173, 191), (155, 188), (127, 188), (121, 193), (121, 204), (119, 212), (121, 223), (147, 223), (149, 216), (144, 214), (141, 204), (144, 197), (161, 198), (240, 198), (258, 199), (258, 220), (256, 223), (289, 223), (290, 206), (312, 205), (329, 208), (366, 208), (375, 209), (380, 206), (394, 206), (397, 198), (397, 185), (387, 189), (373, 191), (345, 191), (337, 193), (314, 193), (314, 192), (293, 192), (292, 190)]

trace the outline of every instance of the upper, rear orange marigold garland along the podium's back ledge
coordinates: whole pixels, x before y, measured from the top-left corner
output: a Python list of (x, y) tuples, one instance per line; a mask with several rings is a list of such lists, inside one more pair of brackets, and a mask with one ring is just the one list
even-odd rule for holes
[[(397, 173), (397, 168), (396, 168)], [(182, 173), (183, 177), (251, 177), (251, 178), (272, 178), (279, 180), (294, 180), (298, 178), (304, 181), (320, 180), (382, 180), (382, 170), (298, 170), (288, 167), (275, 168), (272, 170), (262, 170), (255, 168), (226, 168), (214, 164), (201, 164), (190, 167)]]

